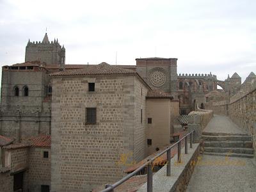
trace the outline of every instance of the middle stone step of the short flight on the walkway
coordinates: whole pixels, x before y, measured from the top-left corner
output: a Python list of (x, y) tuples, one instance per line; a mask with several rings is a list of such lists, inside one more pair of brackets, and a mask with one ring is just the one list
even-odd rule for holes
[(205, 141), (204, 147), (243, 147), (252, 148), (252, 141)]

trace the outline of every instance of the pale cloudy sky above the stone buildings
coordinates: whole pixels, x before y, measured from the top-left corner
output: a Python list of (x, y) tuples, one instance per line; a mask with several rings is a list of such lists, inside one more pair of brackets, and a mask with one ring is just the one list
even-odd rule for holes
[(0, 0), (0, 65), (24, 61), (25, 47), (58, 38), (66, 63), (178, 58), (179, 73), (256, 72), (255, 0)]

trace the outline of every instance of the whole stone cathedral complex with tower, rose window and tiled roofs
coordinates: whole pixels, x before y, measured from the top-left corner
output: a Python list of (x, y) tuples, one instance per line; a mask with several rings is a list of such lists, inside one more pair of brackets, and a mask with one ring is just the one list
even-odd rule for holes
[(115, 182), (124, 175), (122, 157), (138, 162), (170, 144), (180, 114), (240, 86), (238, 74), (225, 81), (211, 73), (178, 76), (176, 58), (68, 65), (65, 48), (45, 34), (28, 42), (25, 63), (3, 66), (0, 184), (57, 192)]

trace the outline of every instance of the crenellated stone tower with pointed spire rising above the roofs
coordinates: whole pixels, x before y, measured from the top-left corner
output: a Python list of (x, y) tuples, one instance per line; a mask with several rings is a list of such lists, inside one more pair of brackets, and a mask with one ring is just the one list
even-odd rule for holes
[(61, 65), (65, 64), (65, 48), (58, 42), (49, 42), (47, 33), (45, 33), (42, 42), (30, 42), (26, 46), (25, 62), (27, 61), (42, 61), (47, 64)]

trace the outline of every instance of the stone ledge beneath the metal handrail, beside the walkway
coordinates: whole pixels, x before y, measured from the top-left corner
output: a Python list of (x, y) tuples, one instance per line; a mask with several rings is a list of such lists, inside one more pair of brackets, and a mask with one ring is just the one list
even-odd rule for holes
[[(188, 154), (181, 150), (181, 163), (177, 164), (177, 154), (171, 160), (171, 176), (166, 176), (166, 165), (153, 175), (153, 191), (184, 191), (193, 173), (196, 158), (200, 152), (200, 144), (193, 143)], [(147, 182), (138, 189), (138, 192), (147, 191)]]

